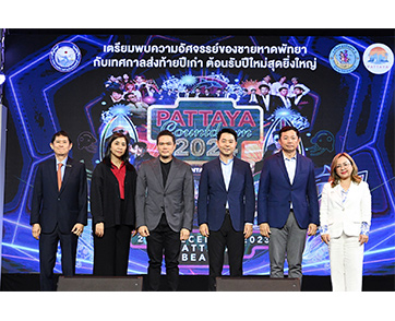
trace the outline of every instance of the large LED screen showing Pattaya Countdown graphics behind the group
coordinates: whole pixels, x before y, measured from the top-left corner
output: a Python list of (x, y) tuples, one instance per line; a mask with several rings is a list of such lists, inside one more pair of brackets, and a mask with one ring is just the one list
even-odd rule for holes
[[(251, 164), (258, 192), (262, 160), (278, 148), (278, 129), (292, 124), (301, 132), (299, 153), (314, 162), (319, 194), (334, 155), (354, 157), (372, 193), (364, 274), (394, 274), (393, 35), (115, 33), (7, 36), (4, 273), (39, 272), (38, 241), (28, 224), (32, 187), (37, 164), (52, 156), (49, 142), (58, 130), (70, 133), (72, 157), (85, 164), (89, 180), (113, 131), (129, 133), (135, 143), (131, 163), (139, 167), (157, 156), (156, 135), (168, 129), (177, 136), (175, 156), (192, 166), (198, 198), (202, 164), (218, 156), (220, 128), (237, 130), (237, 156)], [(277, 95), (267, 109), (260, 98), (265, 82)], [(59, 253), (60, 248), (57, 273)], [(144, 238), (133, 237), (129, 274), (145, 274), (147, 261)], [(89, 219), (79, 241), (76, 272), (89, 274), (92, 265)], [(267, 239), (256, 225), (246, 241), (243, 269), (246, 275), (270, 272)], [(206, 239), (196, 218), (182, 243), (180, 273), (208, 274)], [(307, 239), (303, 273), (330, 274), (320, 236)]]

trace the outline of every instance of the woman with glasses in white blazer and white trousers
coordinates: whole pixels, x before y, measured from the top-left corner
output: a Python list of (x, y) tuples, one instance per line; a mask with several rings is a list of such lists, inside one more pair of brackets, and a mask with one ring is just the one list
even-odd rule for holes
[(363, 248), (371, 222), (369, 186), (347, 153), (337, 154), (331, 165), (320, 209), (321, 238), (328, 245), (332, 289), (362, 290)]

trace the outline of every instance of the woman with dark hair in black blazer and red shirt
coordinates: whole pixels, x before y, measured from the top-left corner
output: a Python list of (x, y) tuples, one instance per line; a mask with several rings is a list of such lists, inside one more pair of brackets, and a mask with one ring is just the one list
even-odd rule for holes
[(91, 181), (94, 275), (127, 275), (135, 224), (136, 170), (129, 163), (129, 136), (113, 133)]

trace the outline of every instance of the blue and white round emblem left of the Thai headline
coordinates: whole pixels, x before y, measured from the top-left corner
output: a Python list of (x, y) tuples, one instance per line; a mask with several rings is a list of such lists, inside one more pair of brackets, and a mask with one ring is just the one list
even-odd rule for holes
[(81, 51), (73, 43), (61, 41), (55, 45), (49, 54), (52, 67), (61, 72), (74, 70), (81, 62)]

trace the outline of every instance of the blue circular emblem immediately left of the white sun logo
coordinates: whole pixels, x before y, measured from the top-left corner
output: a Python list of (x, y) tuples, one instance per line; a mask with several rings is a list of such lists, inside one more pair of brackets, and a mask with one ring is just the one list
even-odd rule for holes
[(330, 54), (330, 62), (334, 70), (339, 73), (350, 73), (359, 66), (358, 50), (348, 44), (337, 45)]

